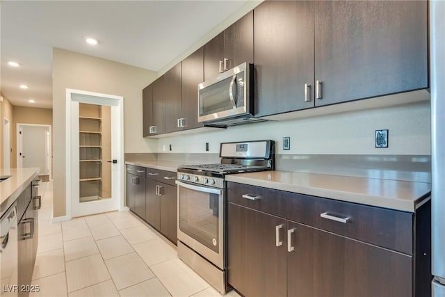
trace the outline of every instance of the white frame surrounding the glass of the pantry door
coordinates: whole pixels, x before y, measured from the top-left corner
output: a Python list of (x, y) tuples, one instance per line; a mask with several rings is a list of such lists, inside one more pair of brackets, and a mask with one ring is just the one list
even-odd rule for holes
[[(74, 108), (76, 108), (76, 102), (81, 103), (93, 103), (93, 104), (102, 104), (102, 105), (110, 105), (117, 107), (117, 112), (115, 113), (113, 122), (117, 125), (118, 129), (112, 131), (113, 138), (115, 138), (116, 144), (113, 145), (112, 150), (112, 158), (118, 159), (117, 164), (113, 164), (116, 166), (116, 169), (113, 170), (115, 174), (118, 176), (113, 180), (118, 180), (116, 184), (112, 182), (113, 189), (112, 193), (115, 195), (116, 200), (115, 203), (104, 204), (104, 200), (97, 200), (91, 202), (83, 202), (88, 203), (88, 211), (89, 214), (97, 214), (106, 211), (119, 210), (122, 211), (124, 209), (124, 97), (116, 96), (116, 95), (108, 95), (102, 93), (89, 92), (85, 90), (74, 90), (67, 88), (66, 91), (66, 106), (65, 106), (65, 145), (66, 145), (66, 154), (65, 154), (65, 205), (66, 205), (66, 218), (70, 220), (73, 215), (72, 209), (72, 197), (73, 195), (73, 184), (79, 184), (79, 176), (73, 175), (73, 168), (79, 168), (79, 158), (74, 160), (72, 158), (72, 150), (77, 149), (77, 153), (79, 153), (79, 148), (72, 145), (73, 137), (79, 138), (79, 136), (74, 136), (72, 134), (72, 128), (79, 127), (79, 118), (74, 119), (72, 117), (72, 112)], [(74, 95), (74, 98), (73, 98)], [(78, 105), (77, 105), (78, 106)], [(112, 109), (113, 110), (113, 109)], [(113, 113), (113, 111), (112, 111)], [(77, 124), (76, 124), (77, 122)], [(113, 124), (112, 122), (112, 124)], [(117, 144), (118, 143), (118, 144)], [(78, 172), (78, 170), (76, 170)], [(76, 197), (75, 199), (79, 199)], [(102, 202), (102, 203), (100, 203)], [(83, 214), (87, 215), (87, 214)], [(77, 216), (77, 214), (74, 214)]]

